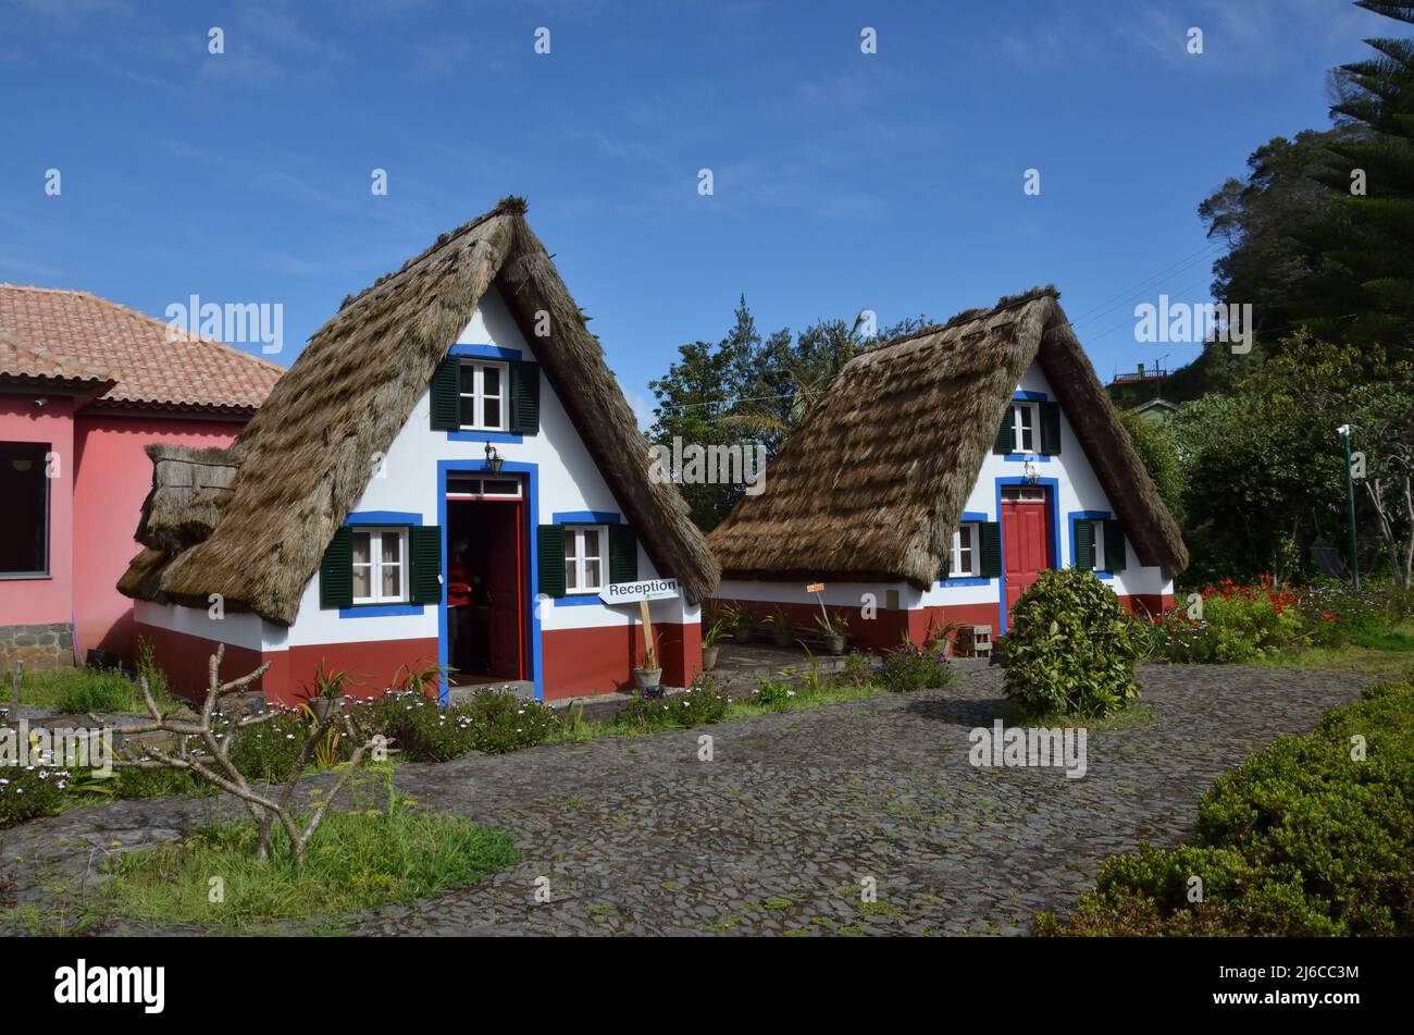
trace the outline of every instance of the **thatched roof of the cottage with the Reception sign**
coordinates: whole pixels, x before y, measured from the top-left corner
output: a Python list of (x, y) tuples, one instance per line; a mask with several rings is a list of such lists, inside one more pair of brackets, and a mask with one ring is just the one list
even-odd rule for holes
[[(293, 622), (334, 532), (363, 493), (373, 454), (392, 445), (496, 283), (655, 566), (693, 600), (710, 594), (717, 561), (677, 491), (649, 478), (648, 440), (525, 211), (522, 199), (506, 198), (345, 300), (232, 445), (239, 468), (215, 530), (185, 551), (153, 556), (148, 544), (119, 590), (198, 607), (219, 592), (228, 608)], [(549, 338), (533, 335), (539, 310), (550, 314)], [(158, 482), (154, 508), (163, 491)], [(164, 523), (181, 525), (173, 516)]]

